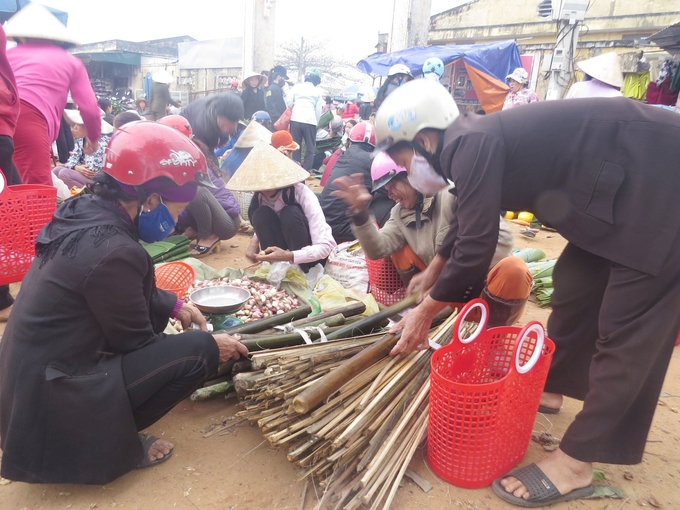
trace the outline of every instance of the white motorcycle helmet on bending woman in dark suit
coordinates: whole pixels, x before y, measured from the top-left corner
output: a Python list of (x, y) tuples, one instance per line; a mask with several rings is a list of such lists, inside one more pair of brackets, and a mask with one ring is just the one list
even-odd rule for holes
[(375, 116), (376, 147), (387, 150), (398, 142), (413, 142), (426, 128), (444, 130), (459, 113), (445, 87), (432, 80), (412, 80), (380, 105)]

